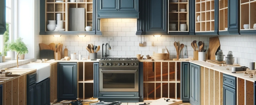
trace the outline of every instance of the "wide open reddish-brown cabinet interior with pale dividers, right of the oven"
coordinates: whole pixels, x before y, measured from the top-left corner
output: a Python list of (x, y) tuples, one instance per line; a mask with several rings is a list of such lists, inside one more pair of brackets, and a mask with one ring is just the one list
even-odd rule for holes
[(175, 61), (143, 62), (144, 100), (180, 99), (180, 64)]

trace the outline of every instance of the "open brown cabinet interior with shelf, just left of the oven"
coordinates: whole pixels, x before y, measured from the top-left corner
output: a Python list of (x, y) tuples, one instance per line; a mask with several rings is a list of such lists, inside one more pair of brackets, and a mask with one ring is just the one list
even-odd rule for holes
[(82, 99), (93, 97), (93, 62), (78, 62), (77, 95)]

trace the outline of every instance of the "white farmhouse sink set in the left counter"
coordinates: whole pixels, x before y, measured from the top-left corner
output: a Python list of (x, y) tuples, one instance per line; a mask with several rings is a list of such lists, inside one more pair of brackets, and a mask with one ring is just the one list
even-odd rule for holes
[[(17, 66), (12, 67), (12, 68), (17, 68)], [(37, 69), (36, 70), (36, 83), (50, 77), (50, 64), (24, 64), (24, 65), (19, 65), (18, 68)]]

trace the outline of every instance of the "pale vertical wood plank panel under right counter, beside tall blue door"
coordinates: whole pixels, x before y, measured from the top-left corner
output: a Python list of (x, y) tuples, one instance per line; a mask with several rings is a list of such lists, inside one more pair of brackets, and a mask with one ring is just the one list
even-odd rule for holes
[(202, 105), (223, 105), (223, 73), (202, 66), (200, 68), (200, 103)]

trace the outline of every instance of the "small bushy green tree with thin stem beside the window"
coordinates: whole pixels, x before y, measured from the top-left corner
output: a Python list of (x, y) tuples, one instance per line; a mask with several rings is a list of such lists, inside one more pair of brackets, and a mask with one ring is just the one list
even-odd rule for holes
[(17, 52), (17, 68), (18, 68), (18, 55), (28, 53), (27, 45), (23, 42), (22, 39), (23, 38), (19, 37), (15, 41), (12, 40), (10, 43), (8, 43), (8, 48), (12, 51)]

